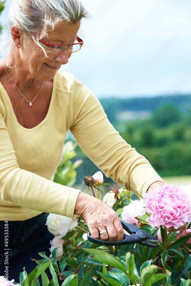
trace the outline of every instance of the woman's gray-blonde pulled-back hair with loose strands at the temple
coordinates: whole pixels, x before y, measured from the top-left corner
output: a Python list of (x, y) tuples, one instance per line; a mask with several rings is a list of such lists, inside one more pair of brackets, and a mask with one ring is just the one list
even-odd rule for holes
[[(48, 29), (54, 30), (60, 23), (77, 23), (88, 17), (88, 10), (80, 0), (13, 0), (7, 25), (9, 34), (11, 27), (17, 25), (24, 33), (42, 39)], [(33, 39), (36, 41), (35, 37)]]

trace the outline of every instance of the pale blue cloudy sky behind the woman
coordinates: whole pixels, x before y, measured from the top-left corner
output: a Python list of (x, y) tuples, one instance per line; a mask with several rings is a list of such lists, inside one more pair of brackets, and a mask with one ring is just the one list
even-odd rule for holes
[[(5, 24), (8, 6), (0, 22)], [(97, 98), (190, 94), (189, 0), (82, 0), (80, 51), (60, 70), (73, 74)]]

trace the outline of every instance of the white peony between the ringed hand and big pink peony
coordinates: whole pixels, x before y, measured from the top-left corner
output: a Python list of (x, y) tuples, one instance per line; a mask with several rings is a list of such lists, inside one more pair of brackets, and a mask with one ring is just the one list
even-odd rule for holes
[(121, 213), (122, 219), (128, 221), (132, 217), (141, 217), (146, 213), (145, 202), (143, 198), (140, 200), (131, 200), (128, 206), (124, 206), (123, 212)]

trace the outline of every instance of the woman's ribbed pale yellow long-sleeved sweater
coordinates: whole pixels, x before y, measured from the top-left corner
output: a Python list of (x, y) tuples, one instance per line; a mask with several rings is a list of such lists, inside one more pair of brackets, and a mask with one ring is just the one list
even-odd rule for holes
[(46, 118), (27, 129), (0, 84), (0, 220), (23, 221), (50, 212), (73, 217), (80, 190), (52, 182), (70, 129), (80, 148), (127, 190), (143, 196), (162, 180), (109, 123), (97, 98), (74, 76), (58, 72)]

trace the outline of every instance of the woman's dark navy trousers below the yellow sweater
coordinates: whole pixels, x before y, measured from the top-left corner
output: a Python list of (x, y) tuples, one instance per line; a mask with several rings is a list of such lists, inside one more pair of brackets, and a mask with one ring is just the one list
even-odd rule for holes
[[(45, 225), (48, 213), (27, 219), (25, 221), (8, 221), (8, 232), (5, 232), (5, 222), (0, 221), (0, 276), (8, 273), (8, 280), (14, 279), (19, 283), (20, 273), (25, 271), (29, 274), (37, 263), (31, 260), (43, 259), (38, 252), (45, 251), (46, 256), (50, 255), (50, 240), (54, 238)], [(6, 228), (7, 229), (7, 228)], [(8, 235), (8, 247), (5, 244), (5, 235)], [(9, 249), (9, 250), (8, 250)], [(8, 271), (7, 271), (7, 267)], [(50, 270), (47, 269), (48, 279), (52, 279)], [(39, 277), (42, 286), (41, 275)], [(63, 280), (60, 281), (60, 285)]]

